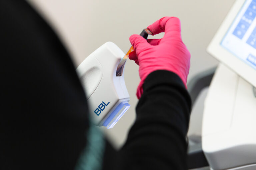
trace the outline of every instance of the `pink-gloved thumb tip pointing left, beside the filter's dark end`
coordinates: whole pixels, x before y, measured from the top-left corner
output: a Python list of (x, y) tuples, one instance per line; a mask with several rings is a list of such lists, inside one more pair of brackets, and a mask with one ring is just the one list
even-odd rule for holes
[(137, 53), (140, 53), (151, 46), (146, 39), (136, 34), (131, 35), (130, 42)]

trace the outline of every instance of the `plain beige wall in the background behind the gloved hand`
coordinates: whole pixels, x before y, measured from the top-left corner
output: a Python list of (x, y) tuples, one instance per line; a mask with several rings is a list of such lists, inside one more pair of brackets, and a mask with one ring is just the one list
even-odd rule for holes
[[(130, 47), (129, 36), (164, 16), (181, 20), (182, 38), (191, 52), (188, 79), (213, 67), (217, 61), (206, 47), (235, 0), (29, 0), (51, 23), (79, 65), (86, 56), (107, 41), (124, 52)], [(158, 36), (161, 37), (162, 35)], [(128, 61), (125, 81), (131, 108), (113, 129), (107, 130), (113, 143), (120, 146), (135, 118), (139, 83), (138, 66)], [(192, 113), (190, 134), (200, 133), (202, 102)], [(194, 114), (195, 113), (195, 114)], [(195, 116), (193, 116), (195, 115)]]

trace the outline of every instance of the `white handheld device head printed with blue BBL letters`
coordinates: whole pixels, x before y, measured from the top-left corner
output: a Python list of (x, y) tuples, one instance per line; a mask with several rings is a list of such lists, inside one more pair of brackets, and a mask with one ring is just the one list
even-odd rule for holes
[(98, 126), (112, 128), (130, 107), (124, 69), (121, 76), (116, 76), (117, 65), (124, 56), (116, 44), (106, 42), (77, 67), (90, 116)]

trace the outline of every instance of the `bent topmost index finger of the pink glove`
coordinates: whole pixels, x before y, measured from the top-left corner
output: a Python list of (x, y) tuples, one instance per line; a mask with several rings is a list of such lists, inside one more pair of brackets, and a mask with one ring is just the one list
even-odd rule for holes
[(180, 37), (180, 20), (177, 17), (163, 17), (160, 20), (154, 22), (152, 25), (148, 26), (148, 29), (153, 34), (165, 32), (164, 37)]

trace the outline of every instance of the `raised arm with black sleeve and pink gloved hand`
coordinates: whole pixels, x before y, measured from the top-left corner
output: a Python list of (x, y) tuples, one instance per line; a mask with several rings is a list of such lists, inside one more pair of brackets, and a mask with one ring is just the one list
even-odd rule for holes
[(122, 148), (121, 169), (186, 169), (186, 133), (191, 101), (186, 90), (190, 53), (180, 20), (164, 17), (148, 27), (162, 39), (132, 35), (129, 58), (140, 66), (137, 119)]

